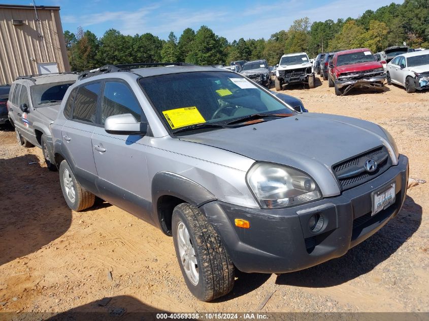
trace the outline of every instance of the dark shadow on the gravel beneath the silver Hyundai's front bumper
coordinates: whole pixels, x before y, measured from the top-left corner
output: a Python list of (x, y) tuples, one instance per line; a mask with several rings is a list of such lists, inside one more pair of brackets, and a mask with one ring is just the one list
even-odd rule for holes
[(276, 284), (327, 288), (366, 274), (388, 259), (417, 231), (421, 216), (421, 206), (407, 196), (397, 217), (347, 254), (302, 271), (279, 275)]

